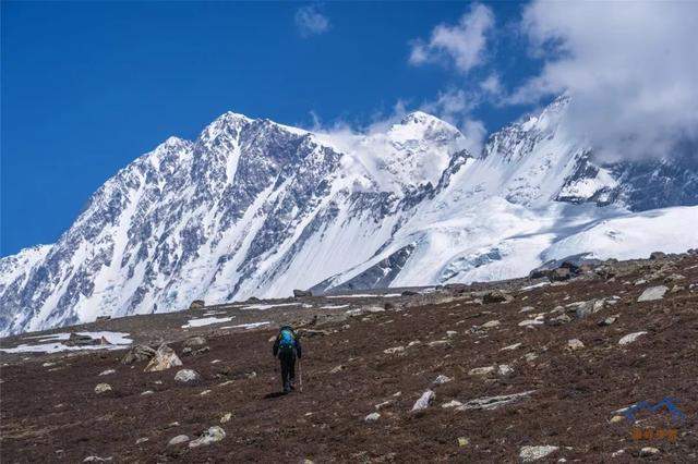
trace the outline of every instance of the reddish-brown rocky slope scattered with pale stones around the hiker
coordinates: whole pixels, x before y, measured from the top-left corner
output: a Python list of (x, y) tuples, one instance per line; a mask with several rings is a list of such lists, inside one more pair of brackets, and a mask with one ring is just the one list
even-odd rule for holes
[[(696, 462), (698, 255), (653, 258), (56, 330), (140, 349), (0, 353), (2, 462)], [(270, 323), (182, 328), (233, 316)], [(280, 395), (270, 340), (286, 321), (303, 391)], [(673, 415), (622, 411), (665, 399)]]

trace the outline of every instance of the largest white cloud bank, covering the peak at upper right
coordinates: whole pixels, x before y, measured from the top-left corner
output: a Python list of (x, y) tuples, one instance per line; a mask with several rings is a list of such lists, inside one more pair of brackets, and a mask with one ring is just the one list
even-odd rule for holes
[(698, 139), (698, 2), (543, 2), (522, 30), (544, 61), (512, 103), (567, 93), (567, 123), (606, 158)]

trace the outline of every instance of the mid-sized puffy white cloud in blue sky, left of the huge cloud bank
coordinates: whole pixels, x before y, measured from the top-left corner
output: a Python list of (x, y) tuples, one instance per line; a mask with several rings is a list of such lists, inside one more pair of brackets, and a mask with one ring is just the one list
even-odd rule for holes
[(432, 30), (429, 41), (412, 42), (409, 62), (414, 65), (428, 62), (448, 63), (467, 73), (482, 64), (486, 46), (486, 34), (494, 26), (494, 14), (483, 4), (473, 4), (458, 24), (440, 24)]

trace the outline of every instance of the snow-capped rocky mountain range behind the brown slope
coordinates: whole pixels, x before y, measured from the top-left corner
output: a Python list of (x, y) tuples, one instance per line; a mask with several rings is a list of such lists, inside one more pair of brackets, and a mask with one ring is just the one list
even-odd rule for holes
[(0, 259), (0, 333), (694, 245), (698, 207), (637, 211), (698, 204), (695, 157), (599, 164), (566, 133), (566, 108), (493, 134), (482, 154), (423, 112), (371, 134), (226, 113), (119, 171), (56, 244)]

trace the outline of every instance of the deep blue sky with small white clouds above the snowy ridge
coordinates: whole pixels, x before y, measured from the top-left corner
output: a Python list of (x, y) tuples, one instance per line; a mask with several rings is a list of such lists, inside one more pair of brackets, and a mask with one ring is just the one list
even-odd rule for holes
[(604, 33), (534, 7), (3, 1), (0, 255), (55, 242), (120, 168), (228, 110), (361, 129), (422, 108), (482, 137), (574, 89), (545, 65)]

